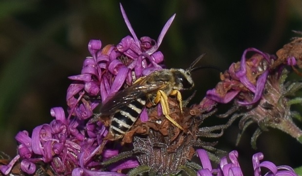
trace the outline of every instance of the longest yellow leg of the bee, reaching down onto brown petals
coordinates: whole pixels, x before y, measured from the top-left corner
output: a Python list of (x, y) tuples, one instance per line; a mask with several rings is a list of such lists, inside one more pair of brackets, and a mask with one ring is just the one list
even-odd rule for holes
[(175, 126), (177, 126), (179, 129), (184, 130), (183, 127), (181, 127), (174, 119), (172, 119), (169, 114), (170, 114), (170, 110), (169, 110), (169, 104), (168, 104), (168, 96), (165, 92), (163, 92), (162, 90), (157, 91), (156, 94), (156, 98), (154, 99), (154, 103), (157, 104), (158, 102), (160, 102), (162, 109), (163, 109), (163, 114), (165, 115), (165, 117), (171, 122), (173, 123)]

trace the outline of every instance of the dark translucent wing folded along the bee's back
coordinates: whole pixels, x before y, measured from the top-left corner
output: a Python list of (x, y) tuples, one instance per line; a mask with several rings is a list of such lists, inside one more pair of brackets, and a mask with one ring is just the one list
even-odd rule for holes
[(145, 84), (145, 81), (139, 81), (130, 87), (116, 92), (112, 97), (108, 97), (100, 108), (101, 115), (111, 115), (116, 113), (122, 107), (128, 105), (137, 98), (142, 98), (148, 94), (164, 88), (166, 85), (157, 82), (152, 84)]

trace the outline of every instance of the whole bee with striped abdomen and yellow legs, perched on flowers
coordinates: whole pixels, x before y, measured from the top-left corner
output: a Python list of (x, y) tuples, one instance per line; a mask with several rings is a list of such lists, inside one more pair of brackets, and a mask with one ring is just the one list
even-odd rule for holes
[(141, 114), (147, 101), (152, 105), (161, 103), (164, 116), (176, 127), (184, 130), (169, 116), (168, 96), (176, 96), (182, 112), (182, 96), (179, 91), (194, 87), (191, 72), (200, 67), (194, 67), (205, 54), (195, 59), (188, 69), (162, 69), (152, 72), (146, 77), (138, 78), (128, 88), (108, 97), (101, 105), (96, 118), (111, 116), (109, 133), (113, 140), (123, 138)]

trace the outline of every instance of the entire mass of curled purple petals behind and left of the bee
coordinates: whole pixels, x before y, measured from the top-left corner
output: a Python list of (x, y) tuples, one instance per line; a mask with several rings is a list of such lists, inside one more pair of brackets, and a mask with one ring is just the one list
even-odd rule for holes
[[(92, 57), (84, 60), (80, 75), (69, 77), (74, 80), (66, 97), (69, 116), (65, 117), (60, 107), (52, 108), (51, 115), (55, 117), (52, 122), (36, 127), (31, 137), (27, 131), (19, 132), (16, 136), (19, 155), (9, 164), (0, 166), (4, 175), (12, 171), (18, 160), (21, 160), (20, 170), (30, 175), (37, 172), (39, 162), (49, 164), (56, 175), (108, 173), (100, 170), (99, 162), (116, 156), (121, 147), (105, 149), (102, 156), (98, 156), (108, 131), (100, 122), (87, 123), (86, 119), (93, 117), (93, 110), (101, 101), (131, 85), (137, 78), (164, 67), (163, 54), (157, 49), (175, 17), (168, 20), (155, 41), (149, 37), (138, 39), (122, 6), (121, 11), (132, 37), (126, 36), (116, 46), (103, 48), (100, 40), (89, 42)], [(93, 97), (101, 100), (95, 101)], [(147, 116), (147, 113), (142, 114)], [(144, 118), (148, 119), (148, 116)], [(129, 159), (108, 170), (116, 172), (137, 165), (136, 160)]]

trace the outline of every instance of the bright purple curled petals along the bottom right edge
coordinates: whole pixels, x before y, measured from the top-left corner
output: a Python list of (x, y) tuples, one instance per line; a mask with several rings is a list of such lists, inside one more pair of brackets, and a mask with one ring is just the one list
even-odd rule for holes
[[(209, 156), (207, 152), (203, 149), (198, 149), (197, 154), (202, 163), (202, 168), (197, 172), (197, 176), (243, 176), (242, 170), (240, 168), (238, 158), (238, 152), (232, 151), (227, 157), (223, 157), (220, 160), (220, 164), (217, 169), (212, 169)], [(254, 176), (261, 176), (261, 168), (266, 168), (269, 170), (264, 176), (298, 176), (294, 170), (289, 166), (276, 166), (270, 161), (262, 161), (264, 155), (262, 153), (257, 153), (253, 155), (253, 169)], [(249, 174), (250, 175), (250, 174)]]

